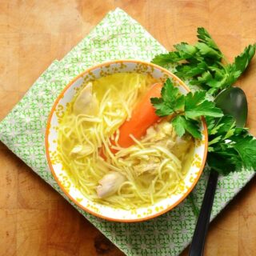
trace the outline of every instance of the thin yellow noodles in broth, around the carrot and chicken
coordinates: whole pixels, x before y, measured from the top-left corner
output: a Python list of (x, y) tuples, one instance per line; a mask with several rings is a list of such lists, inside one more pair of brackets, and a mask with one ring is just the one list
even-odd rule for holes
[[(86, 198), (123, 209), (149, 206), (175, 193), (186, 177), (184, 161), (190, 160), (188, 148), (194, 142), (188, 139), (185, 150), (178, 148), (178, 153), (168, 148), (168, 143), (175, 147), (177, 135), (172, 126), (166, 126), (167, 119), (156, 123), (153, 130), (150, 127), (140, 140), (130, 134), (133, 146), (118, 145), (118, 128), (130, 119), (134, 106), (154, 82), (144, 74), (109, 75), (93, 82), (98, 114), (74, 114), (74, 102), (82, 89), (70, 103), (59, 125), (58, 157)], [(169, 130), (164, 134), (166, 127)], [(99, 198), (96, 188), (110, 172), (122, 174), (125, 181), (116, 193)]]

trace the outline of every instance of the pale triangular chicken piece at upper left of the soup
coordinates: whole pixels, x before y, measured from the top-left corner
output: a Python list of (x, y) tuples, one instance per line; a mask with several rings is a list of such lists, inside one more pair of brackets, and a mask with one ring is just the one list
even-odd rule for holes
[(82, 89), (73, 107), (74, 114), (95, 115), (98, 113), (98, 100), (95, 94), (93, 94), (92, 82), (89, 82), (85, 88)]

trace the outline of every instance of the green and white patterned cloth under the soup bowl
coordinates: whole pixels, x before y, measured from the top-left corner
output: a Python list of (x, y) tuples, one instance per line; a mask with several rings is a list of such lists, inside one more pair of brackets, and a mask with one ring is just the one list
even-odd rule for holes
[[(166, 49), (124, 11), (111, 11), (62, 61), (54, 61), (38, 78), (0, 123), (0, 139), (66, 198), (50, 174), (44, 146), (46, 120), (58, 94), (72, 78), (97, 63), (119, 58), (150, 61), (164, 52)], [(253, 175), (242, 171), (219, 178), (212, 218)], [(202, 174), (195, 188), (198, 206), (205, 188), (206, 174)], [(187, 200), (158, 218), (140, 223), (107, 222), (74, 207), (127, 255), (178, 255), (190, 243), (196, 221)]]

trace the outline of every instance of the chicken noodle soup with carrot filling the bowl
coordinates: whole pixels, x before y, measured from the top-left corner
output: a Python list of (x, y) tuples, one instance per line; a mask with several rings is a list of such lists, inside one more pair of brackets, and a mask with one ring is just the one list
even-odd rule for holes
[(177, 192), (194, 140), (154, 113), (160, 90), (146, 74), (111, 74), (84, 84), (67, 106), (58, 157), (86, 198), (134, 209)]

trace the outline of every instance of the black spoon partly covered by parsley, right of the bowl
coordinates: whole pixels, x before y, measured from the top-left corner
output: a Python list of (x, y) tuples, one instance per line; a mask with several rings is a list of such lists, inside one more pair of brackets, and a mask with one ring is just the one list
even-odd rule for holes
[[(248, 107), (246, 94), (242, 89), (238, 87), (230, 87), (226, 90), (222, 90), (215, 98), (215, 102), (216, 106), (223, 110), (224, 114), (230, 114), (235, 118), (237, 127), (246, 125)], [(198, 222), (194, 230), (189, 256), (203, 255), (217, 182), (218, 172), (210, 170), (210, 176), (202, 200)]]

